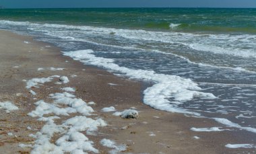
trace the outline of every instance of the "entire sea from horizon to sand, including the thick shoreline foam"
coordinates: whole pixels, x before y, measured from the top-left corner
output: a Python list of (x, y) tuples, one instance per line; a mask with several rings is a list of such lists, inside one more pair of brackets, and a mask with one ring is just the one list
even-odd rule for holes
[[(256, 133), (256, 9), (0, 9), (0, 28), (146, 83), (152, 108)], [(255, 144), (251, 140), (249, 143)]]

